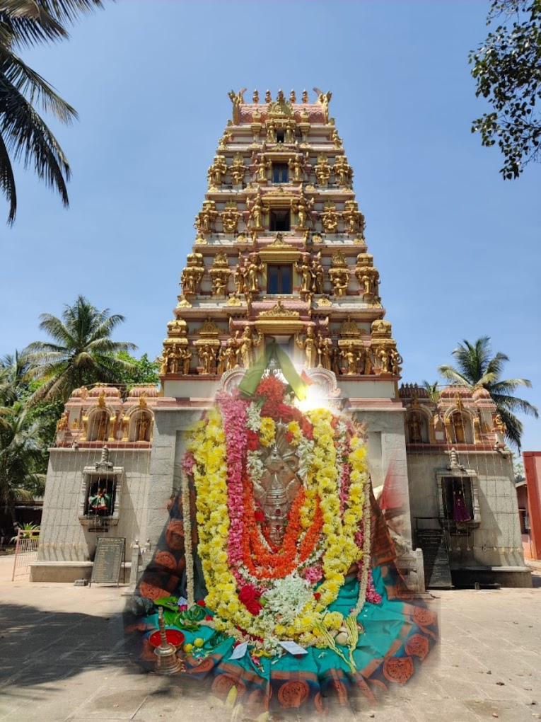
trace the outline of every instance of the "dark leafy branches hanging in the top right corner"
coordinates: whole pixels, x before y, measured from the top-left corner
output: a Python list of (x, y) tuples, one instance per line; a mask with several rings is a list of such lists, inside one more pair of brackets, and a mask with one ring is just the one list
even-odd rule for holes
[[(498, 143), (503, 178), (518, 178), (539, 161), (541, 142), (541, 0), (494, 0), (483, 45), (470, 52), (477, 96), (493, 110), (473, 121), (484, 146)], [(537, 104), (537, 107), (536, 107)]]

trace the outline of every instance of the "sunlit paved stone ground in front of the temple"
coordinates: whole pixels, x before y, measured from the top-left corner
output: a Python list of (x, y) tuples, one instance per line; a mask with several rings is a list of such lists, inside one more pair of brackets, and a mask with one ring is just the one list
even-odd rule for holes
[[(141, 673), (123, 645), (122, 587), (11, 581), (0, 557), (0, 722), (241, 722), (206, 692)], [(332, 708), (338, 722), (541, 719), (541, 569), (533, 589), (438, 591), (441, 644), (379, 706)], [(271, 720), (306, 721), (306, 714)]]

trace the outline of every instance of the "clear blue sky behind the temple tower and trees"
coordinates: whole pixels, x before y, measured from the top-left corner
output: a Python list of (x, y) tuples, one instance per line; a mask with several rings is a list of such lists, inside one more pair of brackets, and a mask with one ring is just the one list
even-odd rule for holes
[[(0, 235), (0, 355), (43, 339), (39, 314), (60, 316), (79, 294), (126, 316), (117, 339), (158, 355), (227, 91), (316, 86), (333, 92), (403, 380), (436, 380), (459, 341), (488, 335), (541, 407), (541, 166), (503, 182), (498, 150), (470, 133), (484, 105), (467, 54), (488, 7), (119, 0), (68, 43), (25, 53), (80, 120), (50, 122), (73, 170), (69, 211), (17, 173), (17, 222)], [(524, 417), (524, 449), (541, 448), (540, 423)]]

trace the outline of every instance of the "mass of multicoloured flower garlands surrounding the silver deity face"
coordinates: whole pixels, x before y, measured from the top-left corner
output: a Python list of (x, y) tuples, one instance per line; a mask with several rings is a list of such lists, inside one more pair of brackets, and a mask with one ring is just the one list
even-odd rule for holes
[(281, 653), (281, 640), (327, 647), (350, 628), (328, 609), (352, 568), (352, 617), (369, 586), (366, 448), (350, 419), (302, 412), (270, 373), (250, 397), (217, 397), (182, 468), (216, 630)]

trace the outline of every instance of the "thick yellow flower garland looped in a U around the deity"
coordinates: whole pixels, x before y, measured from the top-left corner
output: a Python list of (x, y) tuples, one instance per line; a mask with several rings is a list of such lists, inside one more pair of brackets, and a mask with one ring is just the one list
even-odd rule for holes
[[(268, 625), (265, 626), (262, 617), (253, 616), (239, 603), (237, 580), (228, 565), (227, 455), (219, 409), (213, 408), (208, 412), (206, 419), (195, 427), (188, 443), (188, 451), (191, 451), (195, 458), (193, 477), (197, 490), (198, 554), (208, 589), (206, 605), (216, 614), (215, 627), (218, 630), (233, 632), (234, 628), (239, 626), (250, 635), (263, 638), (271, 631), (277, 638), (294, 638), (309, 645), (324, 643), (318, 625), (324, 623), (328, 629), (338, 629), (343, 622), (341, 614), (325, 614), (325, 609), (337, 598), (352, 563), (359, 560), (360, 552), (355, 544), (354, 534), (363, 517), (364, 487), (368, 479), (366, 451), (364, 443), (353, 437), (348, 457), (351, 464), (351, 486), (342, 521), (338, 497), (335, 430), (331, 425), (333, 414), (327, 409), (316, 409), (307, 416), (314, 427), (314, 448), (312, 466), (305, 481), (306, 498), (301, 510), (301, 524), (303, 529), (309, 528), (315, 514), (315, 500), (319, 496), (323, 515), (324, 580), (317, 590), (320, 599), (314, 598), (307, 602), (292, 625), (283, 626), (276, 622), (272, 630), (268, 629)], [(271, 421), (272, 425), (268, 421)], [(290, 428), (294, 437), (297, 437), (297, 428)], [(262, 419), (261, 431), (265, 440), (274, 438), (273, 419)]]

